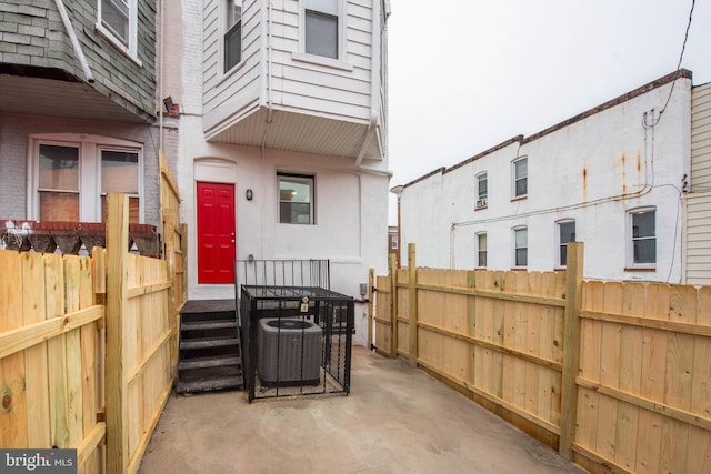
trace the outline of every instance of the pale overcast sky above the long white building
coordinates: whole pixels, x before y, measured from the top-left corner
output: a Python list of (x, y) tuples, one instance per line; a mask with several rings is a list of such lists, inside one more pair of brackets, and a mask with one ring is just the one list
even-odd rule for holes
[[(390, 3), (392, 188), (673, 72), (692, 0)], [(711, 82), (711, 0), (695, 1), (681, 67)]]

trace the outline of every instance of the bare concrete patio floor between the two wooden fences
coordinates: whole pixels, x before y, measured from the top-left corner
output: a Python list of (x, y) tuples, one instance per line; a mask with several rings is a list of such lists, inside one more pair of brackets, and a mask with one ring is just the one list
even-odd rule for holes
[(139, 473), (583, 473), (405, 361), (353, 349), (348, 396), (171, 396)]

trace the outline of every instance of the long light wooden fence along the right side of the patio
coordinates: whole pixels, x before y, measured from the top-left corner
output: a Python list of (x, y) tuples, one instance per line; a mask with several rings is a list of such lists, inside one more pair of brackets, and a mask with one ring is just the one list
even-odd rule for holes
[(377, 278), (375, 349), (591, 472), (711, 472), (711, 288), (410, 265)]

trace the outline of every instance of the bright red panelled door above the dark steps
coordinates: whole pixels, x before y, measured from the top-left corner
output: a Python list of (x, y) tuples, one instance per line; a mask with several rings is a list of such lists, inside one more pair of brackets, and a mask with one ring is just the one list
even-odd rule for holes
[(198, 183), (198, 283), (234, 282), (234, 184)]

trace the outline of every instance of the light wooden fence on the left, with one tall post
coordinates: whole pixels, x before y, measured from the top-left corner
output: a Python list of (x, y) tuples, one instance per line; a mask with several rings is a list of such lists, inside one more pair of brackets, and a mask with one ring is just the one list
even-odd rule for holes
[(92, 256), (0, 251), (0, 446), (77, 448), (82, 473), (138, 471), (177, 363), (168, 262), (128, 253), (108, 201)]

